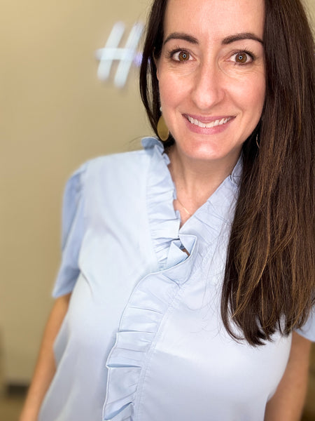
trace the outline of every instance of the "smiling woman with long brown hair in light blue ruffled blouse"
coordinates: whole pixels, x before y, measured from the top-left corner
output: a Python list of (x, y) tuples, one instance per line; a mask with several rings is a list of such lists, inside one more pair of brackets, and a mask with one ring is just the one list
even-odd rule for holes
[(140, 84), (165, 144), (69, 181), (21, 420), (298, 420), (315, 340), (302, 6), (155, 0)]

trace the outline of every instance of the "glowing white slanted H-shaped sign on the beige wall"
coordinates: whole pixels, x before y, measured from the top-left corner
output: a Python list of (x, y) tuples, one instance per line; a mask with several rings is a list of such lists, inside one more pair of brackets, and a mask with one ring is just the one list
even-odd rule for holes
[(120, 41), (125, 34), (125, 25), (123, 22), (117, 22), (113, 26), (105, 47), (99, 48), (96, 52), (97, 60), (99, 60), (97, 77), (101, 81), (109, 80), (113, 62), (118, 61), (114, 83), (118, 88), (125, 86), (132, 64), (139, 66), (141, 62), (141, 53), (137, 53), (137, 48), (143, 31), (142, 23), (134, 24), (125, 47), (121, 48)]

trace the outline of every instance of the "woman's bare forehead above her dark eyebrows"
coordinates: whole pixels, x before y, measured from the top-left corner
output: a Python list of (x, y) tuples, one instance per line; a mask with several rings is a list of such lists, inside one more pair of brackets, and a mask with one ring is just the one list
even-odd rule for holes
[(168, 0), (164, 30), (165, 36), (187, 32), (221, 39), (252, 32), (262, 38), (264, 17), (264, 0)]

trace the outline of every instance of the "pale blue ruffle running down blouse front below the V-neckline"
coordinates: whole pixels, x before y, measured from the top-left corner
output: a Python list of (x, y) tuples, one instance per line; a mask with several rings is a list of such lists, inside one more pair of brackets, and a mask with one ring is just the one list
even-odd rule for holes
[(134, 289), (120, 321), (106, 367), (109, 370), (104, 421), (133, 420), (134, 402), (160, 323), (181, 285), (190, 278), (196, 256), (195, 236), (183, 235), (190, 256), (163, 272), (149, 274)]

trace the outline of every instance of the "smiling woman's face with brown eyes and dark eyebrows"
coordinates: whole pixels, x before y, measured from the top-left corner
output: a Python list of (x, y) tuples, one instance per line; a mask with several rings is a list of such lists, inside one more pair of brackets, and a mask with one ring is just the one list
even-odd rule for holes
[(169, 0), (157, 61), (181, 154), (235, 164), (265, 100), (263, 0)]

